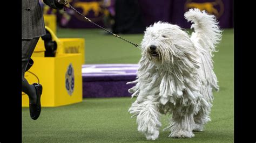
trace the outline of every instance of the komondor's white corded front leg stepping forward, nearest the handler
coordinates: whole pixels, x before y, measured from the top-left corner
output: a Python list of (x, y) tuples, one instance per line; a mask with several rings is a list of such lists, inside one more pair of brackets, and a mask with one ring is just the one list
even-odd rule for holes
[(152, 101), (134, 102), (129, 112), (137, 116), (138, 131), (144, 133), (147, 140), (156, 140), (159, 135), (159, 103)]

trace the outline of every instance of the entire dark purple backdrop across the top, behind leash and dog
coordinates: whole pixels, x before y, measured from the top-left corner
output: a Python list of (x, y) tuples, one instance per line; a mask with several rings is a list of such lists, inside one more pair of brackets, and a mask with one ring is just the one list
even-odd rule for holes
[[(190, 28), (184, 13), (190, 8), (206, 10), (217, 17), (221, 28), (233, 27), (232, 0), (70, 0), (87, 18), (114, 33), (142, 33), (146, 26), (163, 21)], [(41, 2), (45, 15), (55, 15), (62, 28), (98, 28), (73, 10), (57, 11)]]

